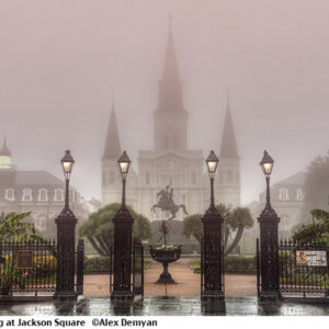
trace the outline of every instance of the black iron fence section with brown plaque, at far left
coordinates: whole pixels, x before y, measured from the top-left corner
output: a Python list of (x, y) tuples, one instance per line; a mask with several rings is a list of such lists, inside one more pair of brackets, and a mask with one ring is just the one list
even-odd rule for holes
[(56, 271), (55, 240), (0, 240), (0, 295), (55, 292)]

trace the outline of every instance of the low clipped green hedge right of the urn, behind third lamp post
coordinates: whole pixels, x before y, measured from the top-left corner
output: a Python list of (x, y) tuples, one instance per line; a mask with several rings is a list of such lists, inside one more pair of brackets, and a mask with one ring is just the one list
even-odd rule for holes
[[(200, 258), (190, 259), (190, 266), (194, 273), (200, 273)], [(256, 273), (257, 264), (254, 256), (227, 256), (224, 258), (225, 273)]]

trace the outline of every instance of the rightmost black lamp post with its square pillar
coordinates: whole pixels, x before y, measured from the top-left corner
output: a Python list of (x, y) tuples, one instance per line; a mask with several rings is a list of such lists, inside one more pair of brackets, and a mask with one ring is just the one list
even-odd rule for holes
[(277, 226), (280, 218), (271, 206), (270, 175), (274, 160), (264, 151), (260, 162), (266, 180), (266, 204), (258, 217), (260, 224), (260, 252), (261, 252), (261, 290), (260, 300), (277, 300), (281, 297), (279, 286), (279, 245)]

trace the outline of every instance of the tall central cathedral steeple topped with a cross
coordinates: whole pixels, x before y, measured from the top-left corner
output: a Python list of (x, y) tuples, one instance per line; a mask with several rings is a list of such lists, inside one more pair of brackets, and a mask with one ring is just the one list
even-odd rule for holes
[(155, 111), (155, 148), (184, 150), (188, 148), (186, 134), (188, 113), (183, 105), (183, 87), (179, 77), (170, 21), (164, 67), (159, 82), (158, 109)]

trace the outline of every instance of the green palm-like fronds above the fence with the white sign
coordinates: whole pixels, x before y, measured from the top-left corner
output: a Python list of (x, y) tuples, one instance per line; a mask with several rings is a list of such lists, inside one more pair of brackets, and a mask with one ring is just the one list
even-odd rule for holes
[(329, 212), (313, 209), (313, 223), (302, 226), (294, 235), (297, 242), (308, 243), (329, 239)]

